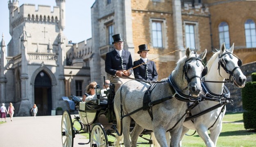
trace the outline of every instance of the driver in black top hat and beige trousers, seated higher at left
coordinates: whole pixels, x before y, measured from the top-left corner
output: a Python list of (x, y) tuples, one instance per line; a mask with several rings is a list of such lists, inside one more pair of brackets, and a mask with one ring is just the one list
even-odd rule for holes
[(115, 49), (106, 53), (105, 71), (109, 73), (110, 82), (115, 85), (115, 92), (125, 82), (134, 78), (132, 75), (131, 53), (123, 49), (124, 41), (121, 34), (112, 36)]

